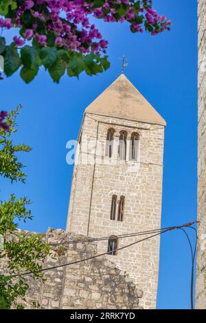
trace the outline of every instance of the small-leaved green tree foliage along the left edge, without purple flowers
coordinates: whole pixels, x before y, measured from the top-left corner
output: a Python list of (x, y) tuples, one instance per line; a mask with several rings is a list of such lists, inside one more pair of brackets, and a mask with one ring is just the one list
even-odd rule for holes
[[(10, 181), (25, 182), (23, 164), (16, 156), (19, 152), (29, 152), (25, 144), (14, 145), (12, 134), (16, 132), (16, 115), (21, 107), (17, 107), (5, 120), (9, 130), (0, 129), (0, 174)], [(19, 221), (32, 219), (28, 205), (31, 201), (26, 197), (16, 199), (14, 194), (8, 201), (0, 202), (0, 309), (23, 309), (25, 293), (29, 288), (25, 271), (32, 272), (32, 278), (43, 279), (42, 263), (49, 254), (49, 245), (42, 241), (40, 234), (19, 232)], [(36, 303), (30, 304), (38, 307)]]

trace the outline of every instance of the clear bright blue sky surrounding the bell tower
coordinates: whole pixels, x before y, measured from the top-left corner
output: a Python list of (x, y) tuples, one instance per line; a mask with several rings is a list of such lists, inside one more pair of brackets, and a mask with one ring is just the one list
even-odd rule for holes
[[(172, 20), (170, 32), (159, 36), (132, 34), (125, 23), (102, 23), (109, 41), (111, 68), (104, 74), (80, 80), (64, 76), (59, 85), (43, 69), (25, 85), (19, 73), (0, 84), (1, 109), (21, 103), (16, 142), (32, 146), (21, 155), (27, 165), (27, 182), (0, 181), (0, 199), (32, 199), (33, 221), (21, 225), (45, 232), (63, 228), (67, 221), (72, 166), (66, 164), (66, 143), (76, 139), (82, 115), (121, 73), (123, 54), (126, 76), (168, 123), (165, 129), (162, 226), (196, 219), (197, 163), (197, 8), (194, 0), (154, 0), (154, 7)], [(10, 36), (10, 34), (8, 35)], [(191, 230), (192, 231), (192, 230)], [(190, 249), (179, 230), (161, 237), (158, 309), (190, 308)]]

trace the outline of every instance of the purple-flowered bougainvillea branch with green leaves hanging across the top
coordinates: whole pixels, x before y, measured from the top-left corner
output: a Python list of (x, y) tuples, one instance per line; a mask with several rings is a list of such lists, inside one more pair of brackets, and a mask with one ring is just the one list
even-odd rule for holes
[(10, 45), (0, 38), (5, 74), (10, 76), (22, 66), (25, 82), (36, 76), (41, 65), (56, 82), (66, 69), (69, 76), (107, 69), (108, 42), (90, 22), (92, 16), (109, 23), (126, 21), (134, 33), (145, 30), (157, 35), (171, 25), (152, 8), (152, 0), (0, 0), (0, 14), (2, 30), (18, 28)]

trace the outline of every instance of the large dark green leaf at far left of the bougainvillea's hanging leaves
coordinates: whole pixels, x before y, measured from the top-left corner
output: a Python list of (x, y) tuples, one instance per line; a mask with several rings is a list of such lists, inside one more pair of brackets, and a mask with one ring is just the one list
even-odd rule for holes
[(11, 76), (21, 65), (21, 59), (19, 58), (19, 54), (14, 43), (9, 46), (5, 46), (3, 56), (5, 75)]

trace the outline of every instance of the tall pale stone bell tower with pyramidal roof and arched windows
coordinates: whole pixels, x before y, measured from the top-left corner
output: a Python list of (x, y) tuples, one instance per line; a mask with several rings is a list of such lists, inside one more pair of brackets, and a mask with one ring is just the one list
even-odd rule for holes
[(73, 170), (67, 230), (92, 237), (98, 252), (144, 291), (141, 305), (156, 307), (159, 236), (115, 252), (161, 226), (165, 121), (120, 75), (84, 111)]

